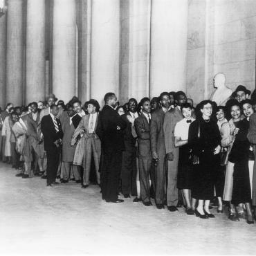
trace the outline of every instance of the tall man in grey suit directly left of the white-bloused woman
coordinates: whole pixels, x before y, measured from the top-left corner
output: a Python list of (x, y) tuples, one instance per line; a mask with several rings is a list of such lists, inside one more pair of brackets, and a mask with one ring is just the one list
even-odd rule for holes
[[(174, 146), (174, 128), (177, 122), (183, 119), (181, 105), (187, 102), (187, 97), (183, 91), (175, 93), (177, 106), (165, 115), (163, 132), (165, 135), (165, 149), (167, 158), (167, 208), (170, 212), (178, 210), (178, 189), (177, 174), (179, 163), (179, 147)], [(181, 196), (182, 199), (182, 196)]]

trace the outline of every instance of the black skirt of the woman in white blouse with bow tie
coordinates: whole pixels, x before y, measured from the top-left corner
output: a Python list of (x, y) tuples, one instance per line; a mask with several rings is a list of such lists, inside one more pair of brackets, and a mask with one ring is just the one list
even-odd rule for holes
[(177, 188), (180, 190), (191, 189), (193, 179), (193, 167), (189, 162), (190, 149), (184, 145), (179, 149), (179, 165), (177, 175)]

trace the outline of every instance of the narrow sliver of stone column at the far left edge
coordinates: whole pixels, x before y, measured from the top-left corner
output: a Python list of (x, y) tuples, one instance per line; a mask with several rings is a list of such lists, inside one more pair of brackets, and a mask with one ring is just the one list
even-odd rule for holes
[(6, 104), (6, 15), (0, 17), (0, 107)]

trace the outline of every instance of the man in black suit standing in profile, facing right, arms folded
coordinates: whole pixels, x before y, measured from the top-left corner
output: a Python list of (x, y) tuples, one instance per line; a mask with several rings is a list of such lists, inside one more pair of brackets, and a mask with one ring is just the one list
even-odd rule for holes
[(127, 127), (116, 107), (115, 93), (104, 96), (105, 105), (99, 114), (96, 134), (102, 143), (102, 199), (112, 203), (122, 203), (118, 199), (118, 184), (122, 165), (122, 151), (125, 149), (123, 130)]

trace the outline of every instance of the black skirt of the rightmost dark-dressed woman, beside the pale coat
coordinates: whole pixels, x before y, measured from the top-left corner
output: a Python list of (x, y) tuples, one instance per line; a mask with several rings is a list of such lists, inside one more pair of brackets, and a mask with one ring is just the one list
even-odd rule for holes
[(233, 173), (232, 203), (250, 203), (250, 177), (248, 159), (235, 162)]

